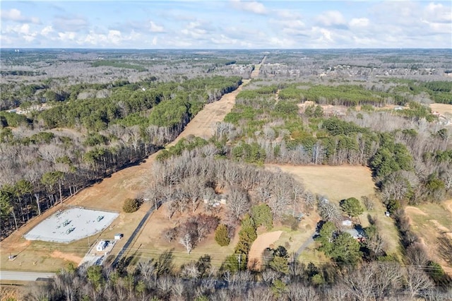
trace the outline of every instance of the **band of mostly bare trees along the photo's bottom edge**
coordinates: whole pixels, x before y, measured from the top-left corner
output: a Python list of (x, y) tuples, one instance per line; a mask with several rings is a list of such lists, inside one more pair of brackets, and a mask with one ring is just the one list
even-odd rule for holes
[[(271, 255), (285, 258), (284, 249)], [(417, 266), (393, 262), (363, 264), (338, 271), (328, 264), (305, 264), (289, 257), (286, 271), (268, 264), (261, 272), (218, 270), (208, 254), (174, 265), (175, 254), (127, 258), (117, 268), (68, 266), (55, 280), (32, 285), (21, 300), (448, 300)], [(139, 260), (134, 268), (127, 262)], [(325, 276), (319, 283), (317, 276)]]

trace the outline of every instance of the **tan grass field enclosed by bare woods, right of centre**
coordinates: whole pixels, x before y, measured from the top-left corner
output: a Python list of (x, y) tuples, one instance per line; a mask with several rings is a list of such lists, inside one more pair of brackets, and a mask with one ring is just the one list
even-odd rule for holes
[(375, 193), (371, 170), (361, 165), (276, 165), (266, 164), (270, 170), (279, 168), (304, 185), (313, 194), (326, 196), (331, 201), (340, 201), (352, 196), (371, 196)]

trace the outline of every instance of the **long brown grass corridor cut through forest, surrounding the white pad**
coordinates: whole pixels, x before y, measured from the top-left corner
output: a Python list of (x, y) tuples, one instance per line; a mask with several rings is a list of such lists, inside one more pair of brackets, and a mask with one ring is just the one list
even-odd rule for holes
[[(222, 121), (225, 115), (230, 112), (234, 106), (237, 93), (242, 90), (246, 83), (249, 83), (249, 80), (244, 81), (244, 84), (232, 93), (223, 95), (217, 102), (206, 105), (169, 146), (174, 145), (180, 138), (189, 135), (205, 138), (212, 136), (216, 122)], [(119, 212), (119, 217), (114, 220), (109, 228), (89, 238), (90, 244), (93, 244), (96, 239), (112, 239), (114, 233), (124, 233), (125, 239), (115, 245), (112, 254), (119, 252), (120, 247), (125, 244), (126, 238), (130, 237), (135, 230), (136, 225), (143, 218), (149, 206), (143, 205), (136, 213), (124, 213), (122, 212), (122, 205), (125, 199), (135, 198), (140, 191), (145, 189), (148, 181), (147, 175), (156, 155), (157, 153), (154, 153), (146, 158), (143, 163), (124, 168), (103, 179), (102, 182), (83, 189), (75, 196), (66, 199), (62, 205), (54, 206), (41, 216), (30, 220), (18, 231), (13, 232), (12, 235), (1, 242), (1, 268), (11, 271), (57, 271), (71, 261), (78, 264), (88, 251), (88, 238), (70, 244), (30, 242), (23, 238), (23, 235), (34, 228), (35, 225), (65, 206), (83, 206)], [(212, 247), (212, 249), (215, 250), (216, 247)], [(16, 260), (9, 261), (9, 254), (17, 255)]]

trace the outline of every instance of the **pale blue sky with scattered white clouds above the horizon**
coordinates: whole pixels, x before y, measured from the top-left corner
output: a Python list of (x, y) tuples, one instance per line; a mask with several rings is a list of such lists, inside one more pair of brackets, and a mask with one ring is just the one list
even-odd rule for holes
[(0, 1), (0, 47), (452, 48), (452, 1)]

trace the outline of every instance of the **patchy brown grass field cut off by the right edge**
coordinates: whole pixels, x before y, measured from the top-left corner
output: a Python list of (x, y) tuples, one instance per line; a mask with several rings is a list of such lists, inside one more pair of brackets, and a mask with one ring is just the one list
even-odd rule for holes
[(452, 239), (452, 199), (442, 203), (424, 203), (420, 206), (407, 206), (405, 213), (410, 218), (412, 231), (425, 244), (429, 255), (444, 271), (452, 275), (452, 266), (448, 265), (438, 252), (437, 238), (446, 235)]

